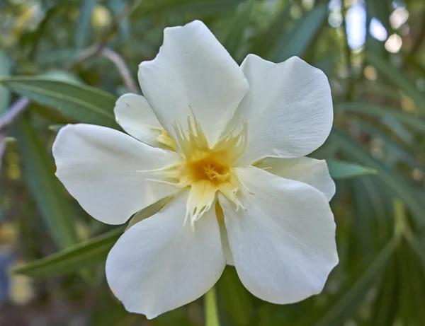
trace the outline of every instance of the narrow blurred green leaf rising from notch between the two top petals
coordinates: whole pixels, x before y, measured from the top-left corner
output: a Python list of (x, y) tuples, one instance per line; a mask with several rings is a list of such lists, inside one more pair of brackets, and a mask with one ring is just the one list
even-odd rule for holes
[(240, 45), (242, 44), (244, 30), (249, 24), (249, 17), (251, 16), (252, 8), (255, 0), (248, 0), (237, 16), (232, 21), (232, 26), (229, 28), (223, 46), (227, 49), (232, 57), (235, 57)]

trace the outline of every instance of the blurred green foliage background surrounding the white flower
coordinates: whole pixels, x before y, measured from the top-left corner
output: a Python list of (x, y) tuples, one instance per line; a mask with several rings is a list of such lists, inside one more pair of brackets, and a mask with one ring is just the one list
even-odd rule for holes
[(131, 87), (119, 61), (135, 79), (162, 30), (193, 19), (239, 63), (302, 57), (334, 96), (334, 129), (312, 157), (329, 161), (337, 184), (339, 266), (293, 305), (251, 296), (227, 267), (221, 324), (424, 325), (424, 17), (423, 0), (0, 1), (0, 122), (30, 99), (0, 127), (0, 325), (203, 325), (202, 299), (151, 321), (125, 312), (103, 271), (123, 229), (87, 216), (51, 155), (68, 122), (119, 128), (113, 103)]

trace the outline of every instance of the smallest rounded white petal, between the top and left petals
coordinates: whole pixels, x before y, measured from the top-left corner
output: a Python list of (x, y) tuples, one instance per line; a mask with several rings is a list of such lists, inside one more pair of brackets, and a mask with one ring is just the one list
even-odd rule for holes
[(157, 136), (162, 125), (142, 95), (124, 94), (115, 103), (115, 118), (131, 136), (145, 144), (158, 147)]

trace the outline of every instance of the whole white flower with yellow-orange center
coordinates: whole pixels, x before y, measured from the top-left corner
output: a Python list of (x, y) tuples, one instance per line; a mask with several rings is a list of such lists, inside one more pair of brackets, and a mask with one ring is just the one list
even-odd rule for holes
[[(145, 97), (121, 96), (128, 134), (68, 125), (53, 146), (57, 177), (108, 224), (173, 197), (126, 231), (106, 277), (133, 313), (154, 318), (202, 296), (227, 264), (255, 296), (293, 303), (322, 291), (337, 264), (324, 161), (331, 91), (322, 71), (292, 57), (250, 54), (241, 66), (200, 21), (166, 28), (142, 62)], [(134, 137), (134, 138), (133, 138)]]

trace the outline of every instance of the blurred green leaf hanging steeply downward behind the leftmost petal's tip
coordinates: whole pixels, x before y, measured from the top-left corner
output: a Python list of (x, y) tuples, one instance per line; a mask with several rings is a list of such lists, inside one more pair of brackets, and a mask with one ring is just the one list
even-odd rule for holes
[(62, 195), (62, 185), (55, 177), (55, 166), (43, 148), (38, 133), (28, 117), (21, 117), (16, 124), (18, 151), (30, 192), (47, 230), (58, 248), (77, 243), (74, 216), (69, 202)]

